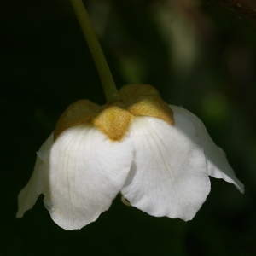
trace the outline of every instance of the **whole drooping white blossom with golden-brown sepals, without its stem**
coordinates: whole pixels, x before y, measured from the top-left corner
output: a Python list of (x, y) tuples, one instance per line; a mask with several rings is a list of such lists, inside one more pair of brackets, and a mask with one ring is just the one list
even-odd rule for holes
[(51, 218), (67, 230), (95, 221), (119, 192), (143, 212), (185, 221), (206, 200), (209, 176), (243, 193), (224, 152), (193, 113), (168, 106), (150, 85), (126, 85), (119, 96), (103, 107), (80, 100), (61, 115), (20, 191), (17, 218), (42, 193)]

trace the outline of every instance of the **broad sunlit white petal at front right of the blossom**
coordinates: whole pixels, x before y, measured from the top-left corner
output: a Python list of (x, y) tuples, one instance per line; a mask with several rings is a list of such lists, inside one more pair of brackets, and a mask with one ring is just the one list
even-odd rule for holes
[(175, 125), (134, 118), (135, 160), (121, 193), (151, 215), (189, 220), (206, 200), (210, 180), (195, 126), (178, 113), (174, 118)]

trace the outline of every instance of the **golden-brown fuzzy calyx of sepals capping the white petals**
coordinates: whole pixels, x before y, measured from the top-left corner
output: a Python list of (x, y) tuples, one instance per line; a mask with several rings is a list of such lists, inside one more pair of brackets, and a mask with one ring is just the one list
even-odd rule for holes
[(172, 109), (151, 85), (130, 84), (119, 90), (121, 101), (99, 105), (89, 100), (71, 104), (55, 126), (55, 139), (68, 128), (90, 122), (109, 139), (120, 141), (125, 137), (134, 116), (151, 116), (174, 125)]

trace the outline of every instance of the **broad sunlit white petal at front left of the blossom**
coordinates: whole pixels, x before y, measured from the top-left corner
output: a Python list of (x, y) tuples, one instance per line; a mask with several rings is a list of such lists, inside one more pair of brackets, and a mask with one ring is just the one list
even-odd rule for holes
[(67, 129), (53, 144), (44, 205), (63, 229), (90, 224), (108, 210), (123, 187), (133, 159), (125, 137), (113, 142), (92, 125)]

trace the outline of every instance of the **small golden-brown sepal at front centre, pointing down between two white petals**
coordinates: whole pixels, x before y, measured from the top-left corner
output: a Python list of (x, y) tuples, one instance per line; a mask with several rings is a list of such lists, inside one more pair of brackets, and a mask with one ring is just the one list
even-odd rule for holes
[(123, 108), (109, 106), (92, 119), (92, 124), (105, 133), (109, 139), (120, 141), (131, 124), (132, 114)]

